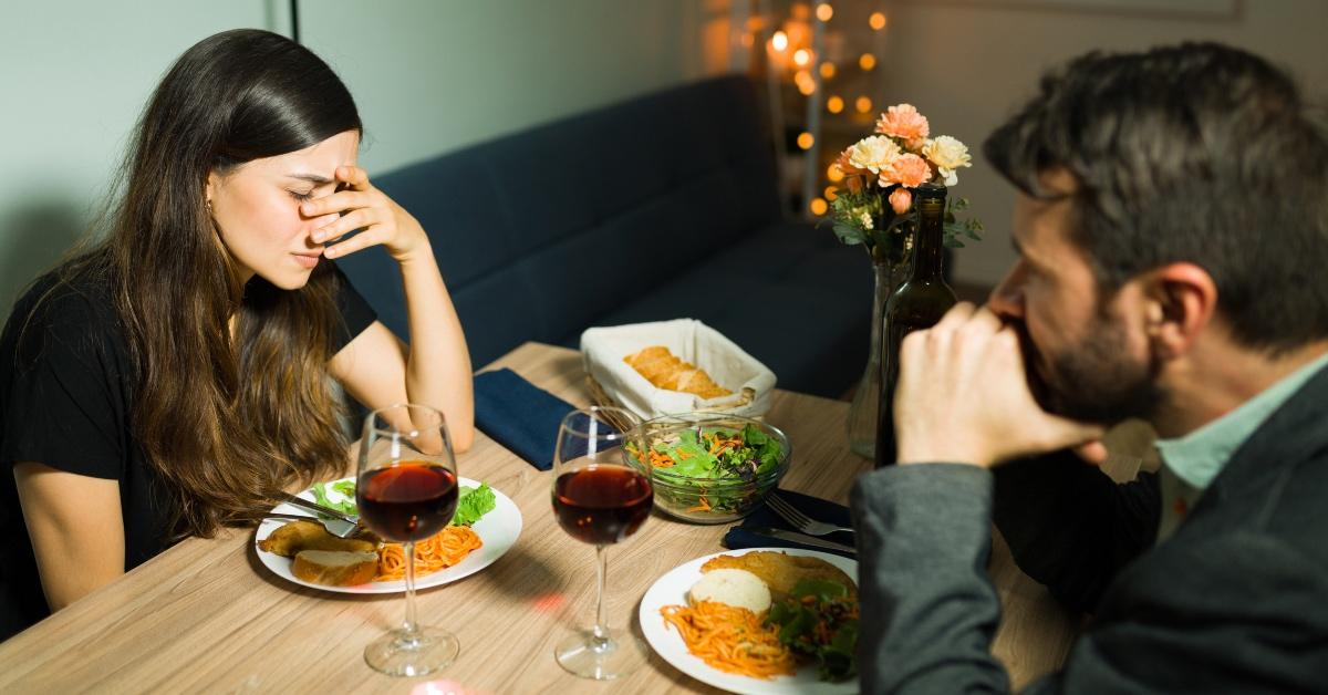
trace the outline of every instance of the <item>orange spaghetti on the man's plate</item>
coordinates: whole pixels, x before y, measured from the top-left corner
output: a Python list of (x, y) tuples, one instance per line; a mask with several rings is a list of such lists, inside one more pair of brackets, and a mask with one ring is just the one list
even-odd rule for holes
[(713, 601), (695, 606), (664, 606), (665, 625), (683, 635), (687, 650), (709, 666), (753, 678), (793, 675), (798, 670), (793, 652), (780, 642), (780, 630), (761, 617)]

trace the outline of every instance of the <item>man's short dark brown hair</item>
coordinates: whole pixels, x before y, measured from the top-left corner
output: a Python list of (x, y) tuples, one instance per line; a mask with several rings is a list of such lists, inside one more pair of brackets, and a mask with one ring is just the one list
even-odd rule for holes
[(1328, 128), (1291, 77), (1218, 44), (1089, 53), (984, 145), (1015, 186), (1068, 170), (1072, 241), (1101, 296), (1173, 262), (1203, 267), (1242, 344), (1328, 336)]

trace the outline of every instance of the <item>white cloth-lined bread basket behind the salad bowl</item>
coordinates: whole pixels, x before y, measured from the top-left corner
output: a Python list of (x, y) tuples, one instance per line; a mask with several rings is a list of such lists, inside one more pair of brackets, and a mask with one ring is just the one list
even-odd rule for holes
[[(623, 357), (651, 346), (669, 348), (675, 356), (700, 367), (733, 393), (701, 399), (656, 388), (623, 361)], [(588, 328), (582, 334), (580, 347), (591, 399), (600, 405), (627, 408), (643, 420), (687, 412), (760, 419), (770, 409), (774, 372), (724, 334), (696, 319)]]

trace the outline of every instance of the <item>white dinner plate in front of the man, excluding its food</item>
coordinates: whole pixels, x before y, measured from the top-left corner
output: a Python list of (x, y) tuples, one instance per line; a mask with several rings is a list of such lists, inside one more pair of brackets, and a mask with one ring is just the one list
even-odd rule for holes
[(687, 605), (688, 590), (692, 589), (692, 585), (701, 578), (701, 565), (705, 565), (705, 562), (713, 557), (744, 555), (757, 550), (817, 557), (839, 567), (849, 574), (849, 577), (853, 577), (854, 581), (857, 581), (858, 577), (858, 561), (855, 559), (795, 547), (745, 547), (742, 550), (725, 550), (724, 553), (714, 553), (713, 555), (696, 558), (691, 562), (673, 567), (667, 574), (660, 577), (653, 585), (651, 585), (649, 590), (645, 591), (645, 597), (641, 598), (641, 610), (637, 619), (641, 622), (641, 633), (645, 634), (645, 641), (651, 643), (651, 648), (653, 648), (655, 652), (659, 654), (665, 662), (673, 664), (673, 667), (679, 671), (683, 671), (705, 684), (714, 686), (729, 692), (814, 692), (818, 695), (857, 692), (857, 679), (845, 680), (842, 683), (826, 683), (817, 678), (817, 666), (814, 663), (802, 666), (802, 668), (798, 668), (798, 672), (794, 675), (776, 676), (769, 680), (737, 674), (726, 674), (706, 664), (699, 656), (693, 656), (692, 652), (687, 651), (687, 643), (683, 642), (683, 637), (677, 634), (677, 630), (664, 622), (664, 617), (660, 615), (660, 609), (664, 606)]

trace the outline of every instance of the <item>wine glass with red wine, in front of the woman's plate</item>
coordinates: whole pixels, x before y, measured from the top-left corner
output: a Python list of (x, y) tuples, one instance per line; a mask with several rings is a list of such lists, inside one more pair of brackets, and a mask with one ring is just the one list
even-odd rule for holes
[(416, 622), (414, 542), (441, 532), (457, 510), (457, 461), (442, 413), (401, 403), (364, 419), (355, 500), (360, 520), (384, 540), (404, 544), (406, 619), (364, 648), (364, 660), (388, 675), (414, 676), (446, 667), (461, 643)]

